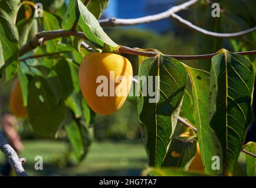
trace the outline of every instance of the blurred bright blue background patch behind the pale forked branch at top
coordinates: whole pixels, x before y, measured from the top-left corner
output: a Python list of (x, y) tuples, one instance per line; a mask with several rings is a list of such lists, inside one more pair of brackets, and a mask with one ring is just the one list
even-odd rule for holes
[[(146, 15), (158, 14), (176, 5), (178, 0), (110, 0), (104, 12), (104, 18), (138, 18)], [(166, 32), (172, 29), (172, 22), (168, 19), (129, 26), (133, 28), (150, 29), (155, 32)]]

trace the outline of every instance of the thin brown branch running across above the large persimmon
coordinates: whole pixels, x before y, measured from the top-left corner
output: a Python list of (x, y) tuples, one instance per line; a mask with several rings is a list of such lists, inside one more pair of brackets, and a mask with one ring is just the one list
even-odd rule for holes
[[(54, 38), (60, 38), (60, 37), (67, 37), (67, 36), (78, 36), (82, 39), (87, 39), (86, 35), (84, 35), (83, 32), (77, 32), (72, 30), (53, 30), (53, 31), (43, 31), (37, 33), (37, 35), (31, 39), (28, 43), (26, 43), (24, 46), (21, 47), (21, 50), (19, 51), (19, 56), (24, 55), (25, 53), (31, 51), (32, 49), (37, 48), (37, 46), (40, 46), (41, 42), (54, 39)], [(41, 42), (40, 42), (41, 40)], [(145, 51), (139, 51), (138, 49), (129, 48), (127, 46), (121, 46), (119, 48), (120, 52), (123, 53), (130, 53), (133, 55), (141, 55), (141, 56), (147, 56), (147, 57), (153, 57), (156, 56), (156, 52), (145, 52)], [(245, 52), (235, 52), (239, 55), (256, 55), (255, 51), (245, 51)], [(175, 59), (209, 59), (215, 56), (217, 53), (210, 53), (205, 55), (166, 55), (170, 56)]]

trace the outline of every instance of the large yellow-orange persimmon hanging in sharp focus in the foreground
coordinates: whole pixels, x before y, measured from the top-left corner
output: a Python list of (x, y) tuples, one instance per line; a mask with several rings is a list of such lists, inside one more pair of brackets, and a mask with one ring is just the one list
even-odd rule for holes
[[(110, 78), (110, 71), (114, 71), (114, 80), (123, 76), (126, 82), (123, 80), (120, 83), (114, 82)], [(107, 96), (97, 95), (97, 87), (101, 85), (101, 83), (96, 83), (98, 76), (106, 76), (108, 80)], [(91, 52), (84, 57), (79, 69), (81, 92), (88, 106), (101, 115), (111, 115), (122, 107), (132, 85), (132, 76), (133, 69), (130, 61), (114, 53)], [(110, 82), (114, 82), (114, 96), (110, 95)], [(124, 95), (116, 95), (117, 86), (126, 90)]]

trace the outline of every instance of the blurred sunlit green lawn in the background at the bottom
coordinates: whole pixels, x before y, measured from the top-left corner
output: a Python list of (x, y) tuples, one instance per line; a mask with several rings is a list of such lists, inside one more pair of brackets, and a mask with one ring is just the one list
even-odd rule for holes
[[(139, 176), (147, 164), (142, 141), (93, 142), (81, 164), (66, 168), (54, 165), (54, 161), (63, 157), (67, 150), (65, 142), (29, 140), (24, 141), (24, 146), (25, 150), (19, 156), (27, 159), (24, 168), (30, 176)], [(35, 156), (43, 157), (43, 170), (34, 169)], [(4, 155), (1, 153), (0, 169), (4, 163)]]

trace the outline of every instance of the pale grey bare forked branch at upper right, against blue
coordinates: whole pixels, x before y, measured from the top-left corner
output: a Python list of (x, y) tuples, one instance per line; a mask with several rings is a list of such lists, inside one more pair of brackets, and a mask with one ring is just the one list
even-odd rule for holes
[(235, 32), (235, 33), (217, 33), (217, 32), (207, 31), (206, 29), (200, 28), (175, 14), (176, 12), (186, 9), (198, 1), (199, 0), (191, 0), (191, 1), (185, 2), (184, 4), (181, 4), (178, 6), (173, 6), (172, 8), (170, 8), (167, 11), (162, 12), (160, 14), (143, 16), (143, 17), (134, 18), (134, 19), (109, 18), (109, 19), (102, 19), (99, 22), (100, 22), (101, 26), (106, 27), (106, 26), (124, 26), (124, 25), (146, 24), (149, 22), (159, 21), (161, 19), (173, 18), (173, 19), (176, 19), (180, 24), (188, 26), (188, 28), (191, 28), (195, 31), (198, 31), (198, 32), (203, 33), (208, 36), (215, 36), (215, 37), (219, 37), (219, 38), (230, 38), (230, 37), (235, 37), (235, 36), (241, 36), (241, 35), (245, 35), (247, 33), (256, 31), (256, 26), (254, 28), (250, 28), (245, 31), (240, 31), (240, 32)]

